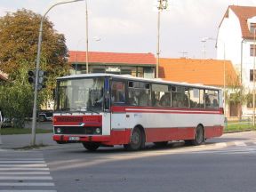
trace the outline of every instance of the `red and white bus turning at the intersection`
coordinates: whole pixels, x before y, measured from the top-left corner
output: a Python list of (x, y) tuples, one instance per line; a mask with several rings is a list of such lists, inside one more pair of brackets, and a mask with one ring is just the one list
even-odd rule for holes
[(57, 79), (53, 140), (81, 142), (84, 148), (171, 140), (200, 145), (223, 132), (222, 92), (133, 76), (89, 74)]

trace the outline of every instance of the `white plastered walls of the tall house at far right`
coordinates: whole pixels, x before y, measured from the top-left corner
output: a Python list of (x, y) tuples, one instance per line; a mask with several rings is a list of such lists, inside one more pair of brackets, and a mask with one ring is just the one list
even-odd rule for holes
[[(243, 43), (242, 43), (243, 42)], [(240, 21), (235, 12), (228, 10), (228, 18), (224, 18), (218, 31), (217, 39), (217, 59), (224, 60), (224, 44), (225, 59), (231, 60), (236, 71), (241, 73), (242, 60), (242, 82), (247, 92), (252, 90), (252, 82), (250, 82), (250, 69), (253, 69), (253, 57), (250, 56), (250, 44), (252, 40), (243, 40)], [(242, 45), (243, 44), (243, 45)], [(243, 58), (241, 53), (243, 49)], [(243, 116), (252, 115), (252, 108), (247, 108), (246, 104), (242, 107)]]

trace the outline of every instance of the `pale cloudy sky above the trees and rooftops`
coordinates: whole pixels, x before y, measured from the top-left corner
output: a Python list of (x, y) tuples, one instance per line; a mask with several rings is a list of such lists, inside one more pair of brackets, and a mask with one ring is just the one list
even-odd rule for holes
[[(44, 14), (56, 0), (0, 0), (0, 17), (25, 8)], [(157, 0), (87, 0), (89, 51), (152, 52), (156, 55)], [(160, 57), (215, 59), (216, 38), (228, 5), (255, 0), (169, 0), (160, 18)], [(47, 13), (69, 51), (85, 51), (85, 1), (60, 4)], [(39, 28), (39, 23), (38, 23)], [(100, 39), (100, 41), (99, 41)], [(204, 56), (205, 46), (205, 56)]]

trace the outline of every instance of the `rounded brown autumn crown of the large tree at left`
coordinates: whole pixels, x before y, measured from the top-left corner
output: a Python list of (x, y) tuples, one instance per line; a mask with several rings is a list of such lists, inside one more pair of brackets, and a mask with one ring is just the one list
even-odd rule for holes
[[(15, 78), (17, 68), (22, 68), (21, 60), (35, 68), (38, 30), (41, 15), (28, 10), (7, 13), (0, 18), (0, 69)], [(68, 71), (66, 57), (68, 49), (65, 36), (54, 30), (53, 24), (44, 19), (41, 58), (44, 70), (52, 76), (60, 76)]]

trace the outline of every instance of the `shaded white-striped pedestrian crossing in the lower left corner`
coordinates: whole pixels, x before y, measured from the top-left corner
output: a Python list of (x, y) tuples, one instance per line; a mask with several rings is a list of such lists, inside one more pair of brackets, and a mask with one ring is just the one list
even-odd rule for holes
[(0, 192), (56, 192), (40, 152), (0, 150)]

